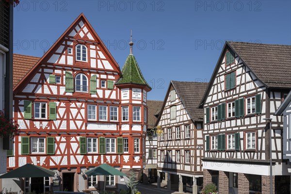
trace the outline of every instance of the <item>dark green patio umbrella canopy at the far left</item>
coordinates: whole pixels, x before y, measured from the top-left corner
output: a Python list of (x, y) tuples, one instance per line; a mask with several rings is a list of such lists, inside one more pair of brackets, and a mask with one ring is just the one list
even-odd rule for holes
[(52, 170), (27, 163), (0, 176), (0, 178), (54, 177), (54, 175), (55, 172)]

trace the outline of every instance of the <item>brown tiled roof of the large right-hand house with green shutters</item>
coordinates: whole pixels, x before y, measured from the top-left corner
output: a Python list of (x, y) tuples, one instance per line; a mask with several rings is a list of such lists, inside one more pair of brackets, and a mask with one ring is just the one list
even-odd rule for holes
[(200, 102), (202, 108), (227, 49), (232, 49), (259, 81), (269, 88), (291, 88), (291, 46), (246, 42), (228, 42), (218, 58), (207, 90)]

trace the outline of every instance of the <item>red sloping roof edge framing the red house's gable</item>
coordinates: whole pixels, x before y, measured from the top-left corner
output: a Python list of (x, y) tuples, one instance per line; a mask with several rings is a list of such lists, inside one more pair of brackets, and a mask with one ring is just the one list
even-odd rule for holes
[(29, 75), (32, 72), (36, 72), (39, 68), (40, 68), (40, 64), (45, 61), (45, 59), (48, 58), (48, 56), (53, 54), (53, 49), (55, 49), (55, 47), (57, 45), (59, 45), (61, 43), (61, 41), (63, 41), (63, 39), (65, 38), (65, 36), (69, 36), (69, 33), (71, 31), (74, 30), (74, 27), (77, 25), (78, 22), (80, 21), (84, 21), (84, 23), (86, 23), (88, 25), (88, 28), (91, 30), (91, 32), (93, 33), (92, 36), (100, 43), (98, 44), (100, 48), (102, 48), (104, 50), (104, 52), (109, 56), (110, 60), (112, 61), (113, 65), (116, 67), (116, 69), (118, 70), (118, 73), (120, 72), (120, 68), (119, 65), (116, 63), (116, 61), (114, 60), (113, 56), (111, 55), (111, 53), (109, 52), (109, 50), (105, 47), (104, 44), (101, 44), (102, 41), (100, 39), (100, 37), (98, 36), (98, 34), (96, 33), (96, 31), (94, 30), (94, 28), (91, 26), (91, 24), (88, 22), (87, 18), (84, 16), (83, 13), (80, 14), (80, 16), (78, 16), (75, 21), (66, 29), (66, 31), (59, 37), (59, 39), (49, 48), (49, 50), (40, 58), (40, 60), (36, 63), (36, 65), (34, 65), (30, 71), (23, 77), (22, 81), (19, 81), (16, 86), (14, 87), (14, 91), (17, 91), (18, 88), (22, 88), (22, 84), (24, 84), (24, 80), (28, 79)]

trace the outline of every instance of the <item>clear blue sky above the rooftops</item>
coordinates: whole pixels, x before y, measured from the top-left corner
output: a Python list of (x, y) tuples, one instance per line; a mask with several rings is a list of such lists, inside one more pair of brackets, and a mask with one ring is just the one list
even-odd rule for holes
[(290, 0), (20, 0), (14, 53), (42, 56), (84, 13), (120, 68), (133, 54), (163, 100), (169, 82), (209, 81), (226, 40), (291, 45)]

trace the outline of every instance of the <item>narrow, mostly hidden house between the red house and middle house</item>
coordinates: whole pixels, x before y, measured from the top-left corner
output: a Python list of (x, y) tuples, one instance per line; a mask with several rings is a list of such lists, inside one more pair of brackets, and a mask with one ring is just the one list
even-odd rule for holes
[(147, 100), (147, 136), (146, 136), (146, 168), (144, 169), (144, 183), (153, 183), (157, 182), (158, 171), (157, 171), (157, 162), (158, 162), (158, 136), (155, 132), (155, 125), (159, 113), (161, 112), (163, 101), (158, 100)]

